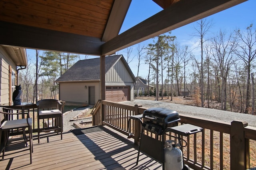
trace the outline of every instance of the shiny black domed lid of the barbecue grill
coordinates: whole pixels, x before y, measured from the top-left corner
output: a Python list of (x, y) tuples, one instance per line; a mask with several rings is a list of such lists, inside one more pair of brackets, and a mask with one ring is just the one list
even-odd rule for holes
[(180, 120), (178, 112), (160, 107), (146, 109), (143, 113), (143, 118), (159, 123), (172, 123)]

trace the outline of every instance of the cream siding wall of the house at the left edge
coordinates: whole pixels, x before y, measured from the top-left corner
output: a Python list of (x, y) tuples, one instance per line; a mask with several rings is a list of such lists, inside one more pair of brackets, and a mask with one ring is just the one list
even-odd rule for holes
[(12, 62), (8, 54), (0, 46), (0, 105), (9, 105), (11, 89), (9, 87), (9, 66), (16, 73), (16, 65)]

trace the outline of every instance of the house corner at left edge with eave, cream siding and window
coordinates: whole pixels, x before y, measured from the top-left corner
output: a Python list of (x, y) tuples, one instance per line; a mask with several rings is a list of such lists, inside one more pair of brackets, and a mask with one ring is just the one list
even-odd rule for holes
[[(18, 70), (27, 66), (26, 49), (0, 45), (0, 105), (12, 105)], [(17, 69), (17, 66), (20, 68)]]

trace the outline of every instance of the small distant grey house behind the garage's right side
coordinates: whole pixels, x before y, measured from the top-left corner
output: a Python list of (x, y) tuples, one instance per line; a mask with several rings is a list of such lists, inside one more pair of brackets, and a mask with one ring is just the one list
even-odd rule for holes
[[(137, 93), (137, 95), (148, 95), (148, 94), (145, 94), (144, 92), (146, 91), (148, 91), (148, 83), (147, 83), (147, 81), (145, 80), (145, 79), (142, 79), (142, 78), (140, 78), (140, 77), (137, 77), (136, 78), (136, 82), (135, 82), (135, 84), (134, 84), (134, 91), (135, 91), (135, 93)], [(152, 86), (152, 85), (149, 85), (149, 89), (150, 90), (153, 90), (153, 87), (154, 86)]]

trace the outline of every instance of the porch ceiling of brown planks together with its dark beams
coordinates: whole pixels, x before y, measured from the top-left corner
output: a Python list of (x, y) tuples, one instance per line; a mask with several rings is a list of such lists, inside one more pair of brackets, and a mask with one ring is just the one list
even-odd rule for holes
[(118, 35), (131, 0), (1, 0), (0, 44), (110, 55), (246, 0), (153, 1), (164, 10)]

